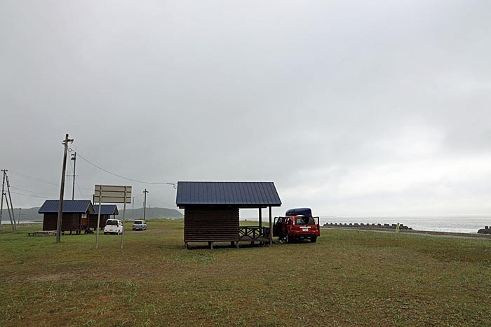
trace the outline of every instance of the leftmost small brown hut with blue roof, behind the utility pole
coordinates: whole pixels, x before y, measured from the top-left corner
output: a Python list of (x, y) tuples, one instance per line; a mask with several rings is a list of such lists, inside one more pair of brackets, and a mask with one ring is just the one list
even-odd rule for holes
[[(43, 230), (56, 230), (60, 200), (46, 200), (38, 213), (43, 214)], [(88, 230), (88, 217), (94, 213), (90, 200), (63, 200), (62, 231), (80, 234)]]

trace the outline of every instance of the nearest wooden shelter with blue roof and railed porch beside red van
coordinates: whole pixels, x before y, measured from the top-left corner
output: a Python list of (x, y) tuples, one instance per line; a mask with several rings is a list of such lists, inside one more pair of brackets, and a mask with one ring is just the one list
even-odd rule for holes
[[(271, 207), (281, 200), (273, 182), (177, 182), (177, 207), (184, 209), (184, 243), (269, 242)], [(262, 226), (262, 209), (269, 207), (269, 227)], [(259, 209), (258, 226), (239, 226), (239, 209)]]

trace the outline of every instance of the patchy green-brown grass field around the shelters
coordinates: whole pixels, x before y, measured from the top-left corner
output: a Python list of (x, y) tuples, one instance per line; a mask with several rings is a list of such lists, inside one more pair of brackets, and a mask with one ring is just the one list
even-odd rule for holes
[(0, 326), (491, 326), (490, 239), (323, 230), (187, 251), (182, 221), (148, 227), (123, 250), (1, 230)]

